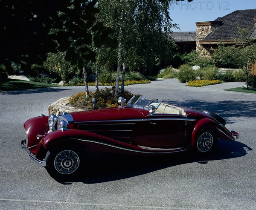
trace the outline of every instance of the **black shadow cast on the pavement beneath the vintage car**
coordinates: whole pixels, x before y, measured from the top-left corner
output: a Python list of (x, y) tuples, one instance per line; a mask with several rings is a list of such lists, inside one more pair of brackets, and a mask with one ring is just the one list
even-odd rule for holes
[(121, 180), (167, 169), (177, 165), (195, 163), (206, 164), (209, 161), (238, 158), (252, 151), (247, 145), (238, 141), (218, 141), (215, 152), (207, 156), (198, 156), (193, 152), (184, 152), (160, 156), (104, 156), (87, 158), (87, 166), (80, 177), (70, 182), (95, 184)]

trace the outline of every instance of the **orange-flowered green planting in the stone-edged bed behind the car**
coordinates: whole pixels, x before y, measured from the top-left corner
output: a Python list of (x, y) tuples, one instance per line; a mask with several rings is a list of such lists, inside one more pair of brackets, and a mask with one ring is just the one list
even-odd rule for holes
[[(119, 91), (120, 92), (120, 91)], [(118, 97), (122, 96), (129, 100), (133, 94), (125, 90), (124, 94), (118, 94)], [(115, 88), (105, 88), (99, 91), (89, 92), (86, 98), (85, 92), (79, 92), (76, 95), (72, 95), (69, 99), (69, 103), (72, 106), (84, 107), (87, 109), (93, 109), (93, 104), (91, 103), (92, 98), (96, 98), (96, 109), (102, 109), (107, 107), (118, 106), (117, 98), (115, 97)]]

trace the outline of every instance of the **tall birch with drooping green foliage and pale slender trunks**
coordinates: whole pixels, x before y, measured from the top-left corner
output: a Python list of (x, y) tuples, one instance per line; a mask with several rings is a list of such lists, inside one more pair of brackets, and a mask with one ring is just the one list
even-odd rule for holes
[(150, 72), (166, 58), (171, 58), (171, 28), (177, 27), (169, 16), (172, 0), (99, 0), (98, 20), (111, 27), (116, 49), (116, 92), (122, 66), (122, 86), (126, 67)]

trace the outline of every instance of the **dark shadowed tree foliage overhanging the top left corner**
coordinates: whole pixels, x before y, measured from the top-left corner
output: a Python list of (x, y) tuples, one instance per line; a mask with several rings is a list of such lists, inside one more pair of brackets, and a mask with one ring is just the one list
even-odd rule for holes
[(12, 71), (12, 62), (28, 72), (33, 63), (43, 65), (48, 52), (67, 51), (66, 59), (79, 67), (84, 60), (94, 60), (95, 53), (87, 47), (92, 41), (96, 46), (113, 44), (110, 30), (95, 20), (95, 4), (96, 0), (1, 0), (1, 72)]

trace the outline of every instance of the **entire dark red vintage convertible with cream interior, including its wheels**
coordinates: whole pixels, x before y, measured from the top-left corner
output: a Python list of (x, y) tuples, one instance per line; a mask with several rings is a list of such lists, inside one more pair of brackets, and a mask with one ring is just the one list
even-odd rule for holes
[(41, 115), (25, 122), (21, 147), (55, 178), (69, 178), (84, 167), (84, 157), (121, 153), (160, 155), (195, 150), (211, 152), (218, 139), (235, 141), (226, 121), (206, 110), (189, 109), (135, 96), (118, 107)]

